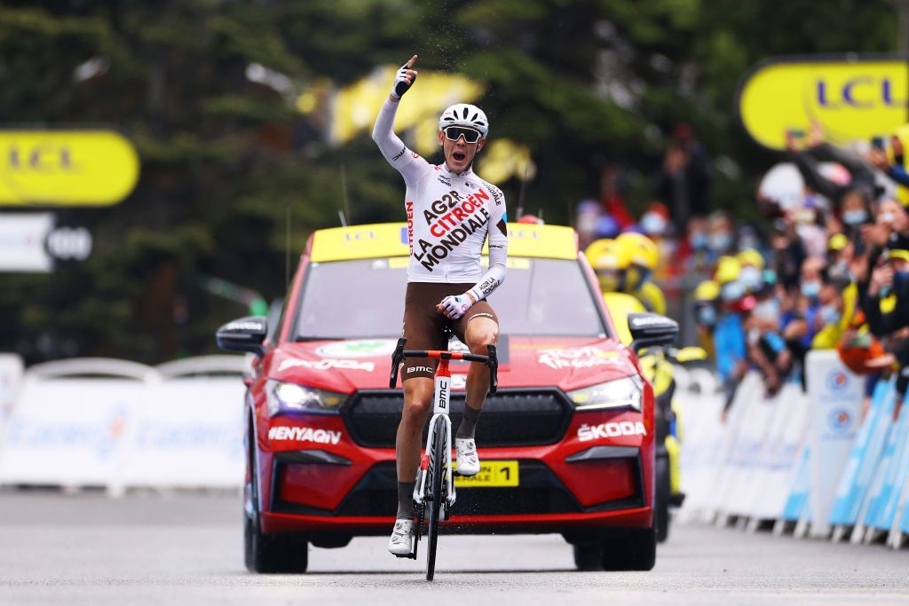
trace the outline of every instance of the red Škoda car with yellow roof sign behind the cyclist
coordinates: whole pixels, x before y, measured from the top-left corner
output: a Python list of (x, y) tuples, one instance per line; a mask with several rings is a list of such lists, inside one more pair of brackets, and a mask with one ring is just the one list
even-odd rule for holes
[[(581, 569), (650, 570), (653, 390), (615, 338), (574, 231), (510, 224), (508, 233), (507, 279), (491, 297), (502, 323), (498, 392), (476, 432), (483, 469), (457, 478), (442, 530), (556, 532)], [(307, 543), (343, 547), (395, 522), (403, 396), (388, 376), (407, 255), (405, 224), (315, 232), (280, 318), (242, 318), (217, 333), (222, 348), (255, 353), (246, 394), (250, 571), (305, 571)], [(654, 314), (629, 322), (638, 344), (669, 343), (678, 330)], [(456, 427), (466, 363), (452, 372)]]

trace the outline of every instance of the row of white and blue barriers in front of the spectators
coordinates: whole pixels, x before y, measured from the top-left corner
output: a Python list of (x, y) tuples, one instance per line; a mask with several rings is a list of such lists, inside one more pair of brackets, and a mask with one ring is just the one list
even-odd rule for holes
[(765, 395), (748, 373), (723, 414), (713, 373), (676, 374), (685, 520), (747, 531), (904, 546), (909, 534), (909, 413), (894, 421), (894, 382), (862, 412), (864, 377), (834, 350), (805, 363), (806, 389)]

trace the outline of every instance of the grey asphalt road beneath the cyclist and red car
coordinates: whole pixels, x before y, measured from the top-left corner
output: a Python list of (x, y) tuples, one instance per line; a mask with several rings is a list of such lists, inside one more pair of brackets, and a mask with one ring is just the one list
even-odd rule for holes
[(449, 537), (435, 581), (385, 539), (313, 549), (305, 575), (243, 568), (225, 495), (0, 493), (0, 604), (909, 604), (909, 551), (675, 525), (654, 571), (577, 572), (554, 535)]

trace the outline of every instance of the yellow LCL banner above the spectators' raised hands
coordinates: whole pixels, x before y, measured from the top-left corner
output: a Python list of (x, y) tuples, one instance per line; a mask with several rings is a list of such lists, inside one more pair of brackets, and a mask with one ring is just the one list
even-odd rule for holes
[(904, 59), (781, 57), (757, 66), (738, 90), (745, 130), (759, 144), (785, 148), (786, 130), (812, 121), (834, 144), (888, 136), (907, 117)]

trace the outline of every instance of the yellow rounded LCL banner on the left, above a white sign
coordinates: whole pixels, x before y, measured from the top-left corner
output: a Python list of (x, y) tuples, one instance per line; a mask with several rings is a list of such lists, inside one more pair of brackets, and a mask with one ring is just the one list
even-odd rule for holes
[(0, 206), (107, 206), (129, 195), (139, 156), (107, 130), (0, 130)]

